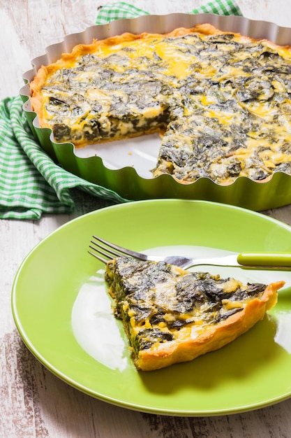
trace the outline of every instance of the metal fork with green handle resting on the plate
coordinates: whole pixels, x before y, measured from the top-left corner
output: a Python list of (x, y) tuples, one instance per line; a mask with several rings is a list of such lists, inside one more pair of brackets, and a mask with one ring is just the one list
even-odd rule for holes
[(169, 257), (147, 255), (124, 248), (115, 243), (92, 236), (89, 254), (94, 255), (100, 262), (107, 263), (114, 257), (126, 255), (137, 260), (151, 262), (167, 262), (188, 269), (199, 265), (240, 267), (243, 269), (274, 269), (278, 271), (291, 270), (291, 253), (240, 253), (223, 257), (188, 258), (179, 255)]

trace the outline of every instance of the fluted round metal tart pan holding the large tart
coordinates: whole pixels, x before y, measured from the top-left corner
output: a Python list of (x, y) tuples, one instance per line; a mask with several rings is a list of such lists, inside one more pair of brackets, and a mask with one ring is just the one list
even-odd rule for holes
[(291, 44), (291, 29), (239, 16), (216, 14), (144, 15), (133, 19), (116, 20), (94, 25), (85, 31), (70, 34), (60, 43), (47, 47), (45, 55), (31, 61), (33, 68), (24, 73), (24, 87), (20, 90), (24, 113), (33, 135), (47, 155), (72, 174), (103, 186), (124, 199), (180, 198), (203, 199), (262, 211), (291, 203), (291, 176), (274, 173), (267, 181), (252, 181), (238, 177), (230, 185), (218, 185), (209, 178), (199, 178), (190, 184), (179, 183), (170, 175), (151, 176), (158, 155), (158, 136), (90, 145), (75, 148), (73, 143), (56, 143), (52, 129), (40, 128), (38, 116), (31, 109), (29, 82), (42, 65), (57, 61), (64, 52), (77, 44), (89, 44), (94, 38), (104, 39), (125, 31), (140, 34), (167, 33), (177, 27), (194, 27), (210, 23), (223, 31), (239, 32), (252, 38), (267, 38), (278, 45)]

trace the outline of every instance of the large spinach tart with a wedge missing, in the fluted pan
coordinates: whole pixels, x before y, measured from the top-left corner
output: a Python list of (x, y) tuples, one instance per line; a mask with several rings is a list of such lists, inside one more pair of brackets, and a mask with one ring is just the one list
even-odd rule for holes
[(77, 45), (30, 83), (40, 127), (76, 147), (161, 134), (153, 177), (291, 174), (291, 52), (211, 24)]

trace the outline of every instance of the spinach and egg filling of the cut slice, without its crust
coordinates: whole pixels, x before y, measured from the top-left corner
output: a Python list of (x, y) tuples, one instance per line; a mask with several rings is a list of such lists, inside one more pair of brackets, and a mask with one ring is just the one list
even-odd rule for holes
[[(128, 257), (109, 263), (105, 278), (114, 290), (115, 313), (123, 320), (136, 354), (174, 340), (188, 324), (220, 323), (242, 311), (244, 302), (260, 297), (266, 288), (261, 283), (241, 285), (205, 272), (180, 274), (165, 262)], [(225, 300), (241, 305), (229, 309)]]

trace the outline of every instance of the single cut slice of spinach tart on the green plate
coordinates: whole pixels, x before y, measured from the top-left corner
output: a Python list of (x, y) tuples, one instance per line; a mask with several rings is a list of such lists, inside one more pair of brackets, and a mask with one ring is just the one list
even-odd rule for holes
[(283, 281), (242, 284), (165, 262), (117, 257), (105, 279), (137, 369), (152, 371), (217, 350), (245, 333), (277, 301)]

